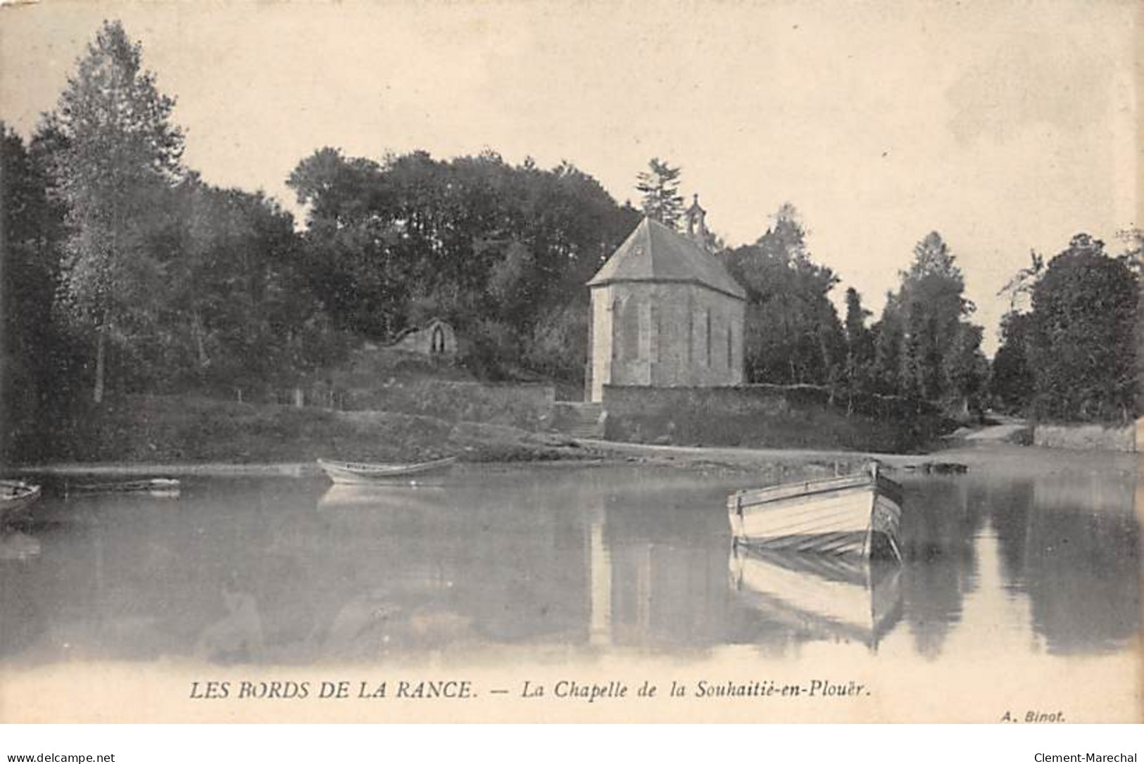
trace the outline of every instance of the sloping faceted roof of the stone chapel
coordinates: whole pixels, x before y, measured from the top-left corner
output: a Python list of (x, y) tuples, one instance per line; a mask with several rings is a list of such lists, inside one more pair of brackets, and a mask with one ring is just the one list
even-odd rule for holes
[(688, 281), (747, 299), (747, 293), (714, 255), (650, 217), (643, 218), (588, 286), (613, 281)]

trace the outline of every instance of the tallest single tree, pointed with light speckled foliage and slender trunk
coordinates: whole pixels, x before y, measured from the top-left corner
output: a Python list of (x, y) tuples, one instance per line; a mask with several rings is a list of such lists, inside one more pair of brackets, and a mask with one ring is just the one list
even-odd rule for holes
[(119, 22), (105, 22), (42, 128), (59, 136), (51, 169), (71, 232), (64, 305), (79, 327), (97, 332), (96, 401), (109, 333), (152, 321), (162, 292), (162, 265), (146, 245), (156, 204), (182, 173), (174, 104), (142, 69), (141, 46)]

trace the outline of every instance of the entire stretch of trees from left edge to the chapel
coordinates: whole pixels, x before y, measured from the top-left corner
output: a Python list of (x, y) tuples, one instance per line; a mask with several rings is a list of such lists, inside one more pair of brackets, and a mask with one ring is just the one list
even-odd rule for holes
[(582, 374), (583, 284), (638, 221), (591, 176), (324, 149), (288, 181), (300, 233), (273, 200), (185, 167), (173, 108), (109, 22), (27, 143), (0, 126), (9, 441), (85, 396), (254, 397), (431, 316), (482, 374)]

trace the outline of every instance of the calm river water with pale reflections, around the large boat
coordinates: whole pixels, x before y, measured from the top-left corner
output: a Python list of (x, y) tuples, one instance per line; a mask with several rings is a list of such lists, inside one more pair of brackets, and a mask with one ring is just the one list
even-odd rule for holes
[(1139, 624), (1141, 550), (1135, 486), (1110, 480), (907, 479), (892, 571), (737, 555), (724, 502), (742, 476), (470, 469), (440, 488), (200, 479), (177, 501), (49, 498), (0, 540), (0, 660), (1115, 653)]

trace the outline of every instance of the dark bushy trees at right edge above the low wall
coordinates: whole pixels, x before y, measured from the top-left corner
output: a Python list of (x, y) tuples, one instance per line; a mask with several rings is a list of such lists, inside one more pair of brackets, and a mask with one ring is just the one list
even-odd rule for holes
[(1010, 281), (1014, 308), (993, 364), (1000, 406), (1060, 421), (1135, 416), (1139, 257), (1136, 239), (1128, 240), (1113, 257), (1079, 233), (1047, 265), (1034, 253)]

